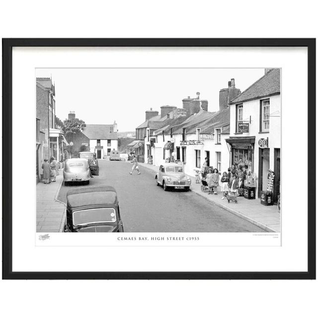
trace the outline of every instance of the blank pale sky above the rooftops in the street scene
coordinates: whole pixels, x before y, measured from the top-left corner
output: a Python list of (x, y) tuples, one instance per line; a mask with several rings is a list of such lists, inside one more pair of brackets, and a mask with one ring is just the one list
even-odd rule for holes
[(209, 102), (219, 110), (219, 91), (235, 79), (241, 91), (264, 75), (264, 69), (37, 69), (36, 77), (52, 77), (56, 115), (64, 120), (70, 111), (86, 124), (112, 124), (119, 131), (135, 131), (145, 111), (160, 106), (182, 107), (182, 99)]

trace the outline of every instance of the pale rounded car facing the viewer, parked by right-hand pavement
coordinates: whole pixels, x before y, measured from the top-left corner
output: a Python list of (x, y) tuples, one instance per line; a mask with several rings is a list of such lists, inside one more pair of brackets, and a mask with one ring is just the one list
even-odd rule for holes
[(156, 184), (162, 185), (164, 191), (168, 188), (189, 190), (191, 179), (184, 173), (182, 163), (163, 163), (155, 176)]

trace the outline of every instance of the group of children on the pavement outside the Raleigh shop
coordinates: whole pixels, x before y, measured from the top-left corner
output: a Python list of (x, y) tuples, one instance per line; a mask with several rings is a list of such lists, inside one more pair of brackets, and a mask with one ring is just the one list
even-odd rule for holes
[[(237, 170), (235, 165), (232, 165), (228, 169), (228, 172), (224, 171), (221, 177), (221, 191), (223, 192), (222, 200), (228, 195), (229, 192), (234, 193), (234, 195), (238, 196), (238, 188), (242, 187), (244, 183), (244, 167), (239, 167), (239, 171)], [(212, 168), (209, 168), (208, 174), (206, 175), (206, 182), (209, 186), (209, 193), (212, 194), (214, 192), (215, 195), (218, 194), (218, 186), (219, 186), (219, 171), (218, 169), (214, 169), (212, 172)]]

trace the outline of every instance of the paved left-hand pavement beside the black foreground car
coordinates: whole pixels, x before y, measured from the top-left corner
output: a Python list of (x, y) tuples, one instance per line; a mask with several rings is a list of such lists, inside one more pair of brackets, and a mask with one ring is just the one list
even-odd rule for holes
[(63, 183), (63, 170), (56, 182), (36, 185), (36, 232), (63, 232), (66, 205), (57, 200)]

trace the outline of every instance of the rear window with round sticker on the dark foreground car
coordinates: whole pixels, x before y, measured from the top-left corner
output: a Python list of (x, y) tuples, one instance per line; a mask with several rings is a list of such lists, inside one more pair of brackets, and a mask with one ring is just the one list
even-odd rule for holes
[(74, 226), (114, 222), (116, 222), (116, 213), (113, 208), (90, 209), (73, 213)]

